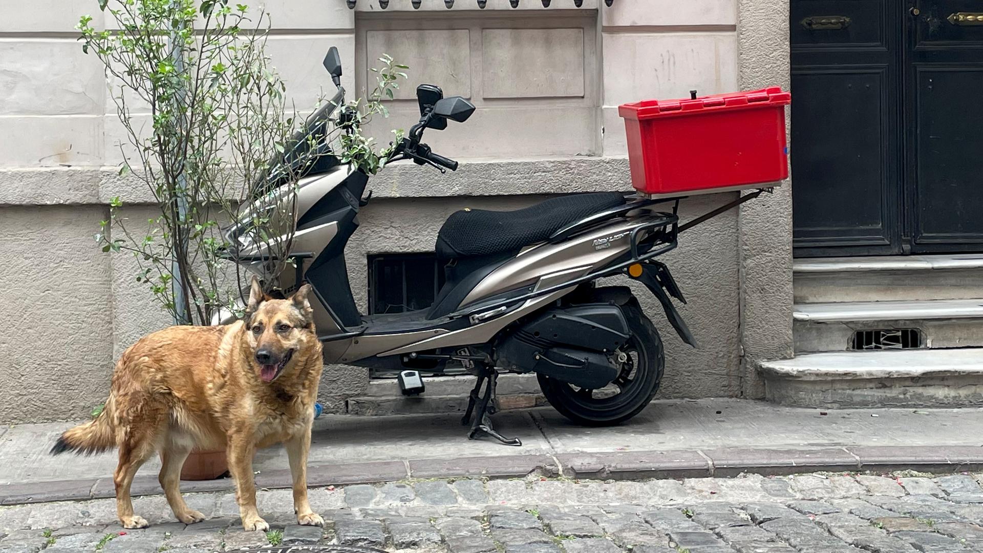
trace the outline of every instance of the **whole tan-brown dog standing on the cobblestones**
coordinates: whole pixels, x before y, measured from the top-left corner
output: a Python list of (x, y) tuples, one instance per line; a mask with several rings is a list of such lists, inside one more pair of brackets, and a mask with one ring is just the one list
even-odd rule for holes
[(271, 299), (253, 279), (243, 321), (221, 327), (171, 327), (133, 344), (120, 357), (105, 408), (58, 439), (52, 455), (119, 448), (116, 513), (142, 528), (130, 484), (140, 465), (160, 454), (160, 486), (181, 522), (204, 517), (181, 498), (181, 466), (192, 449), (226, 448), (236, 501), (247, 531), (267, 530), (256, 507), (253, 456), (283, 443), (301, 524), (322, 525), (307, 498), (311, 424), (323, 367), (305, 284), (290, 299)]

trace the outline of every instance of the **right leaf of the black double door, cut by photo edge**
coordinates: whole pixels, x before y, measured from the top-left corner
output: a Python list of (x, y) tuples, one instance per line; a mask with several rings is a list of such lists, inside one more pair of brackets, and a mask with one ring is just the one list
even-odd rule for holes
[(912, 252), (983, 246), (983, 1), (917, 0), (908, 20)]

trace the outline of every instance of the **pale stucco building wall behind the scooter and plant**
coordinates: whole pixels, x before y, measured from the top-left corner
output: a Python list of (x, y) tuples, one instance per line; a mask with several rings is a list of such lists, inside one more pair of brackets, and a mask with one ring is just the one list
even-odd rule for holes
[[(344, 0), (265, 2), (280, 30), (270, 53), (300, 106), (329, 86), (320, 67), (329, 45), (342, 51), (346, 89), (362, 91), (373, 48), (412, 49), (421, 43), (415, 32), (467, 34), (461, 43), (467, 56), (458, 60), (466, 77), (451, 78), (439, 64), (422, 62), (415, 77), (447, 83), (447, 94), (465, 91), (479, 104), (482, 115), (474, 121), (428, 135), (438, 152), (457, 156), (461, 168), (439, 175), (392, 166), (370, 182), (377, 200), (362, 215), (348, 251), (359, 304), (366, 302), (366, 255), (432, 248), (441, 217), (460, 207), (511, 209), (549, 194), (628, 189), (619, 103), (786, 81), (787, 52), (778, 58), (770, 52), (787, 49), (781, 31), (786, 15), (743, 3), (742, 10), (756, 15), (747, 23), (742, 17), (738, 26), (736, 0), (621, 0), (612, 8), (585, 0), (580, 10), (560, 9), (562, 2), (543, 10), (524, 0), (518, 11), (508, 9), (507, 0), (490, 0), (482, 12), (466, 0), (450, 11), (425, 2), (419, 12), (393, 0), (383, 14), (368, 0), (354, 12)], [(0, 370), (0, 421), (87, 413), (104, 397), (119, 352), (167, 323), (134, 281), (132, 262), (99, 252), (91, 239), (110, 198), (136, 204), (134, 213), (147, 209), (140, 207), (147, 201), (140, 185), (111, 168), (119, 155), (116, 115), (97, 64), (81, 55), (72, 31), (77, 15), (97, 14), (95, 4), (43, 0), (15, 6), (0, 22), (0, 50), (5, 69), (11, 68), (0, 78), (0, 133), (18, 139), (0, 149), (0, 231), (7, 237), (0, 317), (26, 321), (0, 339), (0, 354), (8, 360)], [(766, 16), (770, 23), (759, 21)], [(539, 28), (556, 32), (526, 48), (526, 30)], [(770, 41), (760, 43), (756, 33)], [(431, 57), (453, 58), (440, 52), (449, 52), (463, 35), (450, 36), (444, 43), (432, 40), (437, 53)], [(514, 66), (530, 52), (564, 62), (534, 65), (537, 72), (511, 85), (499, 82), (495, 68)], [(571, 82), (578, 76), (580, 82)], [(408, 127), (414, 104), (397, 99), (393, 119), (385, 123)], [(785, 188), (759, 206), (691, 230), (666, 256), (689, 299), (680, 311), (699, 349), (682, 344), (656, 302), (639, 294), (666, 343), (665, 397), (756, 394), (752, 363), (740, 362), (740, 340), (748, 360), (790, 349), (791, 278), (784, 276), (790, 250), (781, 245), (790, 240), (787, 194)], [(681, 213), (698, 215), (733, 197), (688, 200)], [(775, 332), (766, 336), (765, 330)], [(344, 399), (363, 393), (367, 380), (364, 370), (331, 367), (321, 397), (330, 410), (341, 411)]]

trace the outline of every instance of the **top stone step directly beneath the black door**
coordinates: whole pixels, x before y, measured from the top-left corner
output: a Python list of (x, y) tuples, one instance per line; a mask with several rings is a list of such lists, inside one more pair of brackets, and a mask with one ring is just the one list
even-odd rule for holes
[(797, 259), (795, 303), (983, 297), (983, 255)]

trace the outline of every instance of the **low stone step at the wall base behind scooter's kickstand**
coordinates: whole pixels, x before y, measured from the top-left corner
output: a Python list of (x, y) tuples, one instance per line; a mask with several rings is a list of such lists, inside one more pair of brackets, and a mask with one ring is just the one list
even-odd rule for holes
[[(374, 379), (365, 396), (347, 400), (348, 414), (392, 415), (464, 412), (468, 396), (475, 387), (470, 375), (424, 378), (426, 392), (403, 396), (395, 378)], [(502, 410), (546, 405), (536, 375), (503, 374), (495, 388)]]

